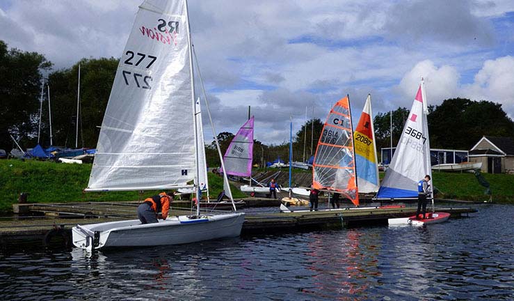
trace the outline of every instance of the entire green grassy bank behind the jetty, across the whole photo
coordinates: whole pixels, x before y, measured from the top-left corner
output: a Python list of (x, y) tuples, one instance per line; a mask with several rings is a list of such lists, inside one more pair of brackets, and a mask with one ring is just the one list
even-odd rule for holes
[[(155, 192), (88, 192), (91, 164), (63, 164), (34, 160), (0, 160), (0, 213), (10, 213), (21, 192), (29, 193), (30, 203), (77, 201), (136, 201)], [(311, 171), (295, 171), (296, 173)], [(383, 176), (383, 173), (381, 174)], [(514, 175), (488, 174), (483, 176), (491, 185), (495, 203), (514, 203)], [(438, 198), (485, 201), (485, 190), (472, 173), (433, 173), (433, 183)], [(211, 198), (223, 189), (223, 180), (209, 173)], [(232, 186), (234, 198), (246, 195)]]

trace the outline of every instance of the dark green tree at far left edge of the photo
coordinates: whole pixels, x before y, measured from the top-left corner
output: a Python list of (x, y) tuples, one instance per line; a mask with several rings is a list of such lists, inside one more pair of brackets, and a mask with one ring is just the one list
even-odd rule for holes
[(0, 148), (13, 148), (10, 135), (22, 147), (37, 142), (42, 72), (50, 68), (42, 54), (8, 49), (0, 40)]

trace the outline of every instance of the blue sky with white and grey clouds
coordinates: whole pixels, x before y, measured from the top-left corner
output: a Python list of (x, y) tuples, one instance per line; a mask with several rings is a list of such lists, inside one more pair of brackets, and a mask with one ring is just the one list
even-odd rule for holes
[[(119, 58), (141, 0), (0, 0), (0, 40), (69, 68)], [(217, 132), (255, 115), (255, 139), (289, 141), (350, 95), (353, 124), (429, 105), (488, 100), (514, 118), (514, 1), (190, 0), (191, 36)], [(208, 121), (208, 118), (203, 118)], [(209, 135), (206, 135), (209, 137)], [(209, 140), (206, 138), (206, 140)]]

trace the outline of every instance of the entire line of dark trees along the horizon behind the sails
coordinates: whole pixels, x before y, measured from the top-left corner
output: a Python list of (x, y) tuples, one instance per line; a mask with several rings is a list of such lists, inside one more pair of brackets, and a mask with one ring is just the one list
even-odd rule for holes
[[(38, 138), (43, 147), (50, 146), (49, 98), (54, 146), (74, 148), (75, 141), (78, 141), (78, 147), (95, 148), (118, 62), (119, 59), (112, 57), (81, 59), (70, 68), (52, 70), (52, 63), (42, 54), (8, 49), (8, 45), (0, 40), (0, 99), (5, 106), (0, 110), (0, 148), (6, 151), (16, 148), (11, 136), (22, 148), (35, 146)], [(79, 65), (80, 114), (77, 124)], [(451, 98), (441, 105), (429, 107), (429, 111), (428, 130), (432, 148), (469, 150), (483, 135), (514, 137), (514, 122), (495, 102)], [(375, 116), (378, 150), (390, 145), (391, 116), (393, 147), (398, 144), (408, 112), (405, 107), (399, 107)], [(294, 161), (307, 160), (315, 153), (322, 128), (323, 121), (314, 118), (306, 121), (294, 134)], [(234, 134), (231, 132), (218, 134), (222, 153), (232, 137)], [(206, 155), (209, 166), (219, 166), (214, 141), (206, 146)], [(259, 165), (278, 157), (287, 161), (289, 143), (266, 145), (255, 140), (253, 156), (253, 162)]]

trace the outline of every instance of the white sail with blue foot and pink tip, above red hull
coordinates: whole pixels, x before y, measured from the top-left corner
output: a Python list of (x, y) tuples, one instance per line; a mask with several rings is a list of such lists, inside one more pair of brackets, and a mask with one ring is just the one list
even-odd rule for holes
[(418, 181), (426, 175), (432, 176), (427, 115), (424, 83), (421, 82), (377, 198), (417, 197)]

